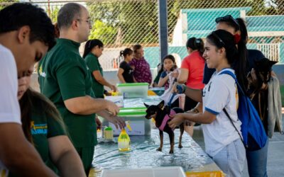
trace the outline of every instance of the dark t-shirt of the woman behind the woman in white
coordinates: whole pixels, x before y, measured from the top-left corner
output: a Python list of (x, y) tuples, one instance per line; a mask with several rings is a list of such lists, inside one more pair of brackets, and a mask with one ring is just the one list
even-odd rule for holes
[[(251, 72), (251, 69), (255, 68), (255, 62), (263, 59), (265, 56), (259, 50), (248, 49), (248, 64), (246, 73)], [(216, 69), (209, 69), (207, 67), (207, 63), (205, 63), (204, 74), (203, 74), (203, 84), (208, 84), (211, 79), (212, 74), (216, 71)]]

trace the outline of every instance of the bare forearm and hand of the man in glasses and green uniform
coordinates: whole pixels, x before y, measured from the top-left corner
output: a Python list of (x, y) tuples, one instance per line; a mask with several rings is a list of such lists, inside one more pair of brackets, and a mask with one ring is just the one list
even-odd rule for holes
[(92, 98), (91, 96), (80, 96), (64, 101), (67, 110), (74, 114), (89, 115), (98, 113), (101, 110), (108, 110), (111, 114), (117, 115), (119, 107), (102, 98)]

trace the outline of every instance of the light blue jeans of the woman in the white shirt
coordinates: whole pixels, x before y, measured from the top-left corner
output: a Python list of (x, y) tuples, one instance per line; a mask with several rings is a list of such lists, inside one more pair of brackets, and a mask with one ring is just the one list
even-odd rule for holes
[(239, 177), (242, 176), (244, 170), (245, 153), (246, 149), (243, 142), (241, 142), (241, 139), (236, 139), (234, 142), (226, 145), (215, 156), (212, 156), (212, 159), (226, 173), (227, 177)]

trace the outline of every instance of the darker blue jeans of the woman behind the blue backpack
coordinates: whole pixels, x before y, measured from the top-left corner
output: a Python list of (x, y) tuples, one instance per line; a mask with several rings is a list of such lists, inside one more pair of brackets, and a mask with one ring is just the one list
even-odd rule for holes
[(266, 146), (257, 151), (246, 151), (250, 177), (267, 177), (268, 138)]

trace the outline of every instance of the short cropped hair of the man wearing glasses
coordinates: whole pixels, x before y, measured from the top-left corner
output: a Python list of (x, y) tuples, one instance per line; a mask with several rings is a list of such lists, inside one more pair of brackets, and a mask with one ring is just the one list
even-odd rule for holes
[(82, 7), (77, 3), (68, 3), (62, 6), (58, 12), (58, 28), (69, 28), (72, 21), (80, 18)]

